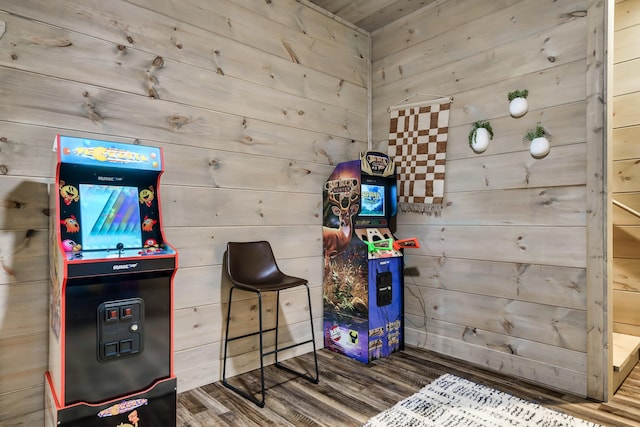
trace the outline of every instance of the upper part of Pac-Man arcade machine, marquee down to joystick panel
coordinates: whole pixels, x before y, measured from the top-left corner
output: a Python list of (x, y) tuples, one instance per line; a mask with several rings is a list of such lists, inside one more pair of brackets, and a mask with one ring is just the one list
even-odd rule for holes
[(161, 228), (159, 148), (60, 135), (54, 149), (65, 259), (175, 253)]

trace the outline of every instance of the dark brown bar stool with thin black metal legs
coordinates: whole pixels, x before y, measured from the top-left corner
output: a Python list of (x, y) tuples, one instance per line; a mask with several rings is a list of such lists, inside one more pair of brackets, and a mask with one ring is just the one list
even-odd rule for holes
[[(302, 378), (311, 381), (314, 384), (319, 382), (318, 356), (316, 354), (315, 335), (313, 332), (313, 316), (311, 314), (311, 293), (306, 279), (288, 276), (278, 268), (271, 245), (267, 241), (258, 242), (229, 242), (227, 243), (227, 251), (225, 253), (227, 264), (227, 275), (231, 280), (231, 289), (229, 290), (229, 305), (227, 307), (227, 326), (224, 339), (224, 362), (222, 367), (222, 384), (238, 393), (242, 397), (250, 400), (261, 408), (265, 405), (264, 390), (264, 357), (275, 354), (275, 366), (296, 374)], [(278, 348), (278, 320), (280, 317), (280, 291), (293, 288), (296, 286), (304, 286), (307, 288), (307, 301), (309, 304), (309, 322), (311, 325), (311, 339), (291, 344), (283, 348)], [(254, 292), (258, 296), (258, 331), (229, 338), (229, 323), (231, 319), (231, 302), (233, 300), (233, 291), (239, 289), (247, 292)], [(270, 329), (263, 329), (262, 324), (262, 294), (265, 292), (276, 292), (276, 326)], [(275, 349), (272, 351), (264, 351), (263, 337), (265, 332), (275, 331)], [(227, 345), (231, 341), (247, 338), (253, 335), (260, 336), (260, 383), (261, 383), (261, 400), (258, 400), (252, 394), (241, 390), (227, 382)], [(278, 353), (293, 347), (304, 344), (313, 344), (313, 359), (315, 363), (315, 377), (310, 374), (299, 372), (282, 365), (278, 361)]]

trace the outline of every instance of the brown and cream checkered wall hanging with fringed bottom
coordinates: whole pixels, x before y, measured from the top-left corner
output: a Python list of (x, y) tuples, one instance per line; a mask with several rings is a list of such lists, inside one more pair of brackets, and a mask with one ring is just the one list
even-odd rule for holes
[(389, 156), (396, 164), (398, 208), (439, 215), (452, 99), (389, 108)]

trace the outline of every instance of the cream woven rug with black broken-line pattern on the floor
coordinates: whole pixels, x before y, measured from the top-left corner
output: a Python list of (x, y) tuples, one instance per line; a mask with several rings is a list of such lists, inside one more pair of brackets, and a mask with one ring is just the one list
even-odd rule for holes
[(446, 374), (371, 418), (365, 427), (592, 427), (588, 421)]

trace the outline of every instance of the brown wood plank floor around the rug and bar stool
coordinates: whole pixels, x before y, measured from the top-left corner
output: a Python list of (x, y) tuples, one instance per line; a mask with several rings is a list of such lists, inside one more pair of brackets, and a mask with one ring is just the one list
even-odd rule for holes
[[(291, 359), (292, 367), (311, 369), (313, 356)], [(360, 426), (410, 396), (435, 378), (451, 373), (528, 401), (603, 426), (640, 427), (640, 365), (607, 402), (594, 402), (545, 389), (464, 362), (407, 347), (364, 365), (328, 350), (318, 351), (320, 384), (296, 378), (271, 365), (265, 368), (266, 406), (241, 398), (222, 383), (178, 395), (178, 426)], [(231, 379), (259, 390), (259, 371)]]

